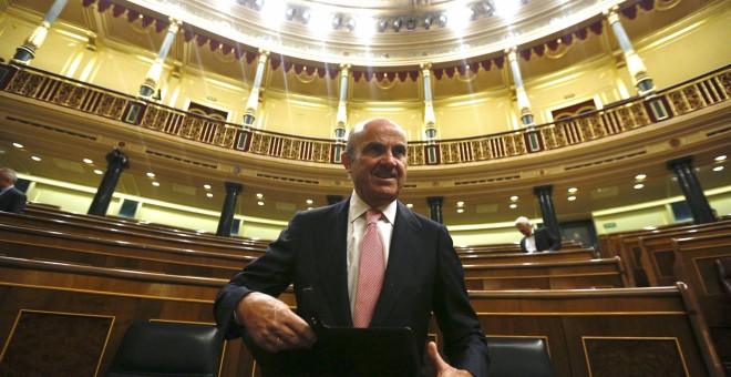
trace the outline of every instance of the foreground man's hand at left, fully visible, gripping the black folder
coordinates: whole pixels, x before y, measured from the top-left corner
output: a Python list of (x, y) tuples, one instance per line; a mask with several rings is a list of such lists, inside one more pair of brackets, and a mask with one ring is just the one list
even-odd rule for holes
[(236, 317), (254, 342), (270, 351), (310, 348), (317, 340), (315, 332), (289, 309), (287, 304), (269, 295), (253, 292), (236, 306)]

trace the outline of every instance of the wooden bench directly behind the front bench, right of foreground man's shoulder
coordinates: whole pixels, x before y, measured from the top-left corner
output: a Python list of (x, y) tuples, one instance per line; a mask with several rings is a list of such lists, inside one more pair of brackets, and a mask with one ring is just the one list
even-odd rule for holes
[(603, 258), (502, 265), (465, 265), (467, 289), (625, 287), (621, 259)]

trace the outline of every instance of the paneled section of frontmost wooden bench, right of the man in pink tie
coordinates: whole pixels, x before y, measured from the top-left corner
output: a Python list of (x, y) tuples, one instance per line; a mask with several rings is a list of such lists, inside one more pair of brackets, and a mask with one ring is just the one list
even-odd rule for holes
[(708, 328), (670, 287), (471, 292), (490, 336), (544, 338), (556, 376), (717, 376)]

